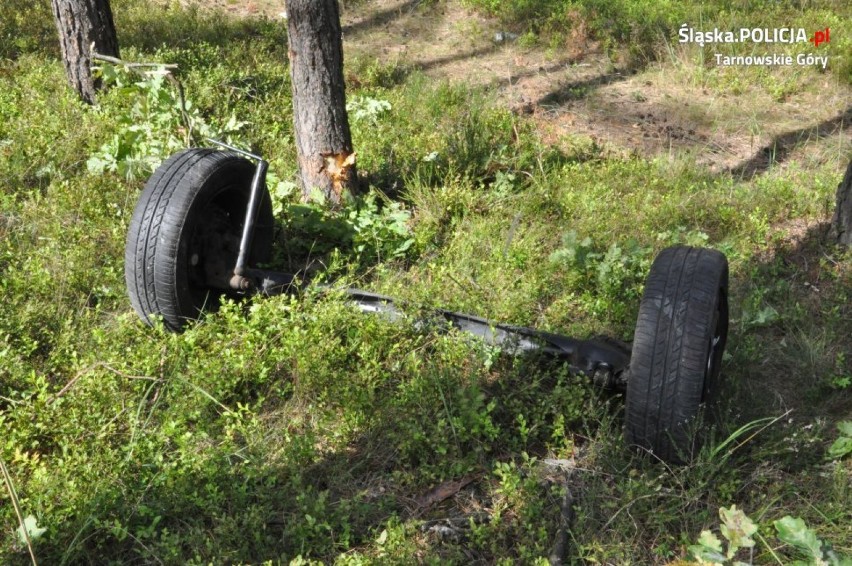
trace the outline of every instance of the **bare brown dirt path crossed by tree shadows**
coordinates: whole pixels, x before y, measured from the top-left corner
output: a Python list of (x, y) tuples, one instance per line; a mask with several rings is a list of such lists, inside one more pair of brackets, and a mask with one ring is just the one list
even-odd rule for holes
[[(203, 4), (283, 19), (282, 0)], [(548, 143), (570, 144), (569, 136), (580, 135), (615, 152), (687, 156), (745, 178), (794, 163), (807, 169), (830, 162), (841, 170), (852, 152), (852, 91), (832, 74), (785, 69), (773, 77), (779, 86), (739, 87), (736, 68), (702, 72), (677, 50), (629, 73), (601, 53), (581, 24), (563, 48), (548, 51), (523, 47), (498, 22), (452, 0), (342, 5), (349, 56), (490, 85), (509, 108), (535, 120)]]

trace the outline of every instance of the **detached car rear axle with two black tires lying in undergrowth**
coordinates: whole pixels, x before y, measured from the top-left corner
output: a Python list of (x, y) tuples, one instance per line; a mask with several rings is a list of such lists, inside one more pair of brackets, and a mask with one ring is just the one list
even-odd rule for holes
[[(272, 251), (267, 162), (214, 143), (226, 151), (188, 149), (166, 160), (136, 204), (125, 277), (133, 308), (148, 324), (159, 317), (179, 331), (215, 308), (221, 295), (292, 288), (293, 275), (252, 267)], [(363, 311), (402, 316), (389, 297), (357, 289), (348, 296)], [(696, 419), (718, 391), (727, 296), (722, 253), (676, 246), (651, 266), (632, 349), (615, 340), (577, 340), (445, 310), (436, 314), (508, 353), (540, 352), (596, 384), (625, 389), (628, 442), (676, 463), (696, 449)]]

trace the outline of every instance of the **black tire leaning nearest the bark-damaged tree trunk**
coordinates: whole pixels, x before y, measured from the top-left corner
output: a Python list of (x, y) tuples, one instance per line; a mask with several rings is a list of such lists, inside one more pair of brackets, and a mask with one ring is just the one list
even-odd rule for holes
[[(188, 149), (166, 160), (142, 191), (127, 233), (125, 281), (134, 310), (147, 324), (162, 317), (181, 330), (218, 307), (239, 253), (255, 167), (211, 149)], [(249, 264), (268, 261), (272, 202), (264, 187)], [(218, 284), (210, 284), (215, 280)]]

